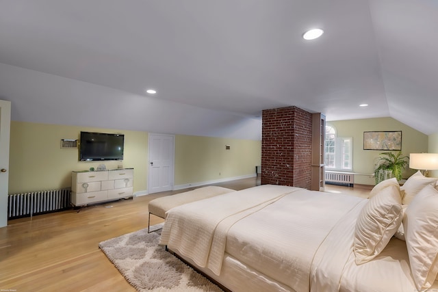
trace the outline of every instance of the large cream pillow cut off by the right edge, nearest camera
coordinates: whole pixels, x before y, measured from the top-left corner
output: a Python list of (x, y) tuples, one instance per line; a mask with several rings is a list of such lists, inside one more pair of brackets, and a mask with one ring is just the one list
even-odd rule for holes
[(418, 291), (428, 289), (438, 275), (438, 191), (427, 185), (413, 198), (403, 220), (404, 237)]

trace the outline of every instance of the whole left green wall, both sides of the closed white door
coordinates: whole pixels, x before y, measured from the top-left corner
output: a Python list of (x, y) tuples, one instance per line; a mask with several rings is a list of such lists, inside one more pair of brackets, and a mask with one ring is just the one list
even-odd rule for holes
[[(134, 168), (134, 192), (147, 191), (148, 132), (12, 121), (8, 193), (70, 187), (72, 170), (96, 168), (99, 162), (78, 161), (77, 149), (61, 149), (62, 139), (79, 139), (81, 131), (125, 134), (124, 160), (104, 163), (107, 169)], [(175, 185), (255, 174), (260, 149), (260, 141), (176, 135)]]

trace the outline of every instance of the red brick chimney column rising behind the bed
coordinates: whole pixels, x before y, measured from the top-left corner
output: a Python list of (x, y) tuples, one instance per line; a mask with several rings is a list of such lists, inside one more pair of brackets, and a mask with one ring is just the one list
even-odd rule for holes
[(298, 107), (262, 112), (261, 184), (311, 187), (312, 114)]

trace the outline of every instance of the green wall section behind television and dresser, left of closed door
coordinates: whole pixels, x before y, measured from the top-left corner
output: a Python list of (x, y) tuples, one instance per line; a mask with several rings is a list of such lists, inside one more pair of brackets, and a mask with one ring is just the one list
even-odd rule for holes
[[(123, 161), (78, 161), (77, 149), (62, 149), (61, 139), (79, 139), (81, 131), (125, 134)], [(105, 163), (107, 169), (134, 168), (134, 191), (146, 189), (148, 133), (11, 122), (9, 194), (71, 186), (72, 170)]]

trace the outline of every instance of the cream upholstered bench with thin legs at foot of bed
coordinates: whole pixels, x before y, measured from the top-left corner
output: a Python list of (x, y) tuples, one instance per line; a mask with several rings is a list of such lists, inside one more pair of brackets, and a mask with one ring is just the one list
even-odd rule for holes
[(149, 209), (148, 233), (150, 226), (149, 222), (151, 222), (151, 214), (166, 219), (166, 212), (174, 207), (180, 206), (182, 204), (188, 204), (190, 202), (195, 202), (197, 200), (203, 200), (214, 196), (219, 196), (222, 194), (227, 194), (230, 193), (231, 191), (235, 191), (235, 190), (227, 189), (226, 187), (217, 187), (217, 186), (200, 187), (192, 191), (185, 191), (180, 194), (165, 196), (162, 198), (156, 198), (154, 200), (151, 200), (151, 202), (149, 202), (148, 205), (148, 209)]

